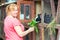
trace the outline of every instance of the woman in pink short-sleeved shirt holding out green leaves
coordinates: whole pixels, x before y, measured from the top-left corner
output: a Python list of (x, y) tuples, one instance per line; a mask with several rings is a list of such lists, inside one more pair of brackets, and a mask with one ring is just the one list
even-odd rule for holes
[(4, 32), (6, 40), (23, 40), (23, 37), (34, 31), (34, 27), (24, 31), (24, 26), (16, 18), (18, 7), (16, 4), (10, 4), (6, 7), (7, 16), (4, 20)]

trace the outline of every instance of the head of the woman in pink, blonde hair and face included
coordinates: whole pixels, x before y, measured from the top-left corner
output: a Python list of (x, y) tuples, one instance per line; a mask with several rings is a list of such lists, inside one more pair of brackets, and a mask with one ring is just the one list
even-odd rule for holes
[(13, 16), (17, 16), (18, 8), (16, 4), (11, 4), (6, 7), (6, 13), (7, 15), (12, 14)]

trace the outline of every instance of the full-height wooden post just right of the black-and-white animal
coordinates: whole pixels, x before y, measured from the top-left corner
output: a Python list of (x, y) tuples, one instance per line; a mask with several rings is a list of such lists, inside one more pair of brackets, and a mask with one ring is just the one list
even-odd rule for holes
[(39, 35), (40, 35), (40, 39), (39, 40), (44, 40), (44, 26), (42, 26), (44, 24), (44, 1), (41, 0), (41, 23), (38, 23), (38, 27), (39, 27)]

